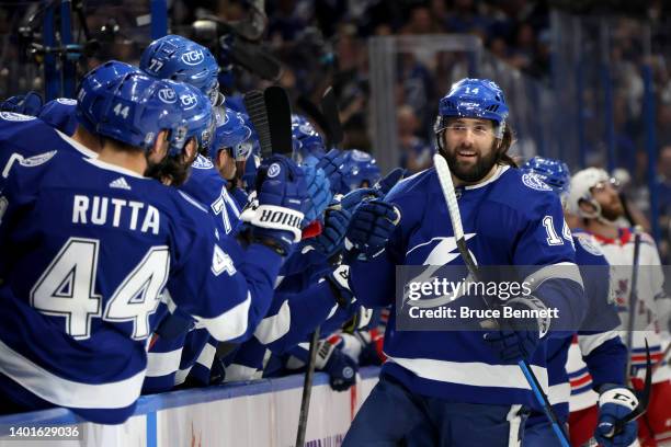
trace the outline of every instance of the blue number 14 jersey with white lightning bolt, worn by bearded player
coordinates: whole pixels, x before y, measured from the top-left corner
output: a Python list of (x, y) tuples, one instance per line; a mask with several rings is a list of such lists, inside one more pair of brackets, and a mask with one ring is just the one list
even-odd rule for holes
[[(566, 320), (560, 322), (562, 326), (579, 323), (584, 312), (580, 273), (570, 232), (568, 239), (562, 236), (568, 227), (564, 230), (561, 205), (551, 190), (516, 169), (497, 167), (487, 181), (458, 187), (456, 193), (468, 249), (478, 265), (515, 265), (521, 278), (543, 273), (544, 267), (565, 265), (551, 270), (564, 276), (548, 277), (532, 294), (559, 309)], [(402, 180), (385, 202), (399, 208), (399, 225), (382, 254), (368, 262), (357, 261), (350, 270), (350, 285), (364, 306), (393, 306), (383, 373), (419, 394), (537, 406), (520, 368), (502, 364), (482, 340), (482, 332), (396, 329), (396, 266), (463, 264), (463, 260), (435, 169)], [(548, 336), (554, 336), (551, 329)], [(545, 355), (545, 344), (541, 344), (530, 363), (547, 387)]]

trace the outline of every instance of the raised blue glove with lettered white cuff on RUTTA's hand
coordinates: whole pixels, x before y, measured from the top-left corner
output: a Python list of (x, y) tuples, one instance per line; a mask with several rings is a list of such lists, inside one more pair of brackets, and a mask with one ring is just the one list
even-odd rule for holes
[(305, 174), (292, 160), (272, 156), (257, 174), (257, 198), (240, 218), (251, 224), (252, 241), (286, 255), (300, 240), (307, 203)]

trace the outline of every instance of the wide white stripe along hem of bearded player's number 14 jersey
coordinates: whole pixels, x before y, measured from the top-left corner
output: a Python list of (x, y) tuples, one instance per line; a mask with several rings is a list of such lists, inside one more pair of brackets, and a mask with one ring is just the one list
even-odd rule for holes
[[(522, 369), (518, 365), (489, 365), (480, 362), (400, 357), (388, 357), (387, 362), (394, 362), (421, 378), (441, 382), (531, 390)], [(531, 368), (544, 392), (547, 393), (547, 369), (536, 365), (531, 365)]]

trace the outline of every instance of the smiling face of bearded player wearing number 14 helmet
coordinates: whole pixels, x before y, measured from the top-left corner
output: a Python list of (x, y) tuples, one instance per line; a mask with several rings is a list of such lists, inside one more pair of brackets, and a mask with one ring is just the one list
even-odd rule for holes
[(499, 159), (493, 122), (455, 118), (443, 133), (443, 147), (450, 170), (465, 183), (476, 183), (491, 172)]

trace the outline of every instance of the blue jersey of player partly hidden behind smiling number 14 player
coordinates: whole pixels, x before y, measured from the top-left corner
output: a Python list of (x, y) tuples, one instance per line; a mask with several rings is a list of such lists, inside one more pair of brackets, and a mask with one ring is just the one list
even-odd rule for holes
[[(584, 357), (589, 369), (598, 380), (594, 385), (624, 383), (624, 364), (626, 347), (619, 336), (613, 332), (619, 325), (615, 303), (611, 299), (611, 276), (609, 263), (601, 250), (589, 240), (573, 236), (576, 262), (580, 267), (584, 285), (587, 313), (583, 326), (599, 328), (599, 331), (579, 331), (583, 341), (590, 346)], [(571, 387), (566, 370), (569, 347), (573, 335), (564, 339), (551, 339), (547, 346), (547, 369), (549, 402), (560, 421), (567, 421)], [(590, 387), (592, 383), (590, 382)], [(532, 415), (528, 424), (546, 422), (544, 414)]]

